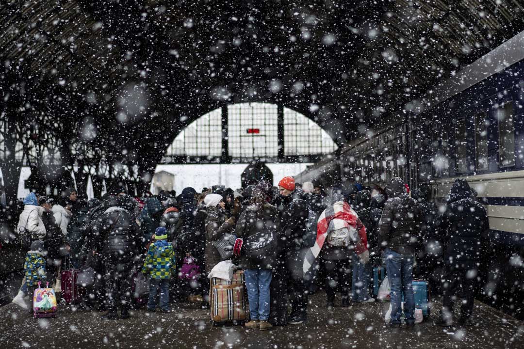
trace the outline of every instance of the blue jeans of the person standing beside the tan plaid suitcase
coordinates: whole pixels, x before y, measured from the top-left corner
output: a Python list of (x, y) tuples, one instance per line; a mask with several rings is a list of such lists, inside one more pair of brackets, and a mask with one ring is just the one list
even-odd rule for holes
[(267, 321), (269, 319), (269, 284), (272, 273), (267, 269), (248, 269), (244, 271), (249, 300), (251, 320)]

